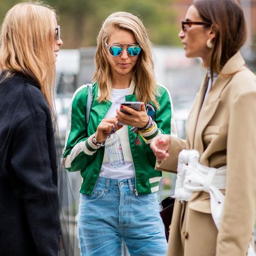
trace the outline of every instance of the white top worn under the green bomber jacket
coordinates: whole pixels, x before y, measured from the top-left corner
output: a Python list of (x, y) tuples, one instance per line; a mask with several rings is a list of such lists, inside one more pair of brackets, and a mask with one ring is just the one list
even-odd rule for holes
[[(127, 95), (129, 88), (125, 89), (112, 89), (111, 101), (109, 111), (105, 118), (115, 118), (116, 109), (120, 109), (120, 103), (125, 101), (125, 95)], [(134, 164), (132, 162), (131, 150), (129, 145), (129, 137), (127, 131), (127, 125), (124, 125), (120, 130), (116, 131), (116, 134), (120, 137), (122, 144), (122, 151), (124, 154), (125, 165), (119, 168), (110, 168), (109, 159), (105, 149), (104, 159), (100, 170), (100, 176), (111, 179), (129, 179), (134, 178)]]

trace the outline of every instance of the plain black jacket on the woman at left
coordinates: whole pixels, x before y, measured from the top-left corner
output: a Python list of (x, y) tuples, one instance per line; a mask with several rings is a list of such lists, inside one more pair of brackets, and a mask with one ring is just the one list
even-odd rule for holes
[(0, 82), (0, 166), (0, 255), (57, 255), (51, 112), (37, 83), (19, 73)]

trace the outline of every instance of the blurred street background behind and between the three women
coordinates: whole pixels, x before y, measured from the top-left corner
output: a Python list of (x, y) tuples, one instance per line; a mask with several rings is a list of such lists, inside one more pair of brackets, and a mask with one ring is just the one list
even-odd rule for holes
[[(1, 0), (1, 23), (8, 9), (18, 2), (20, 1)], [(178, 38), (180, 21), (185, 18), (191, 0), (48, 0), (44, 2), (56, 8), (63, 40), (56, 63), (56, 109), (61, 135), (58, 145), (60, 154), (65, 141), (71, 97), (76, 88), (91, 82), (97, 34), (105, 18), (115, 11), (128, 11), (141, 17), (154, 45), (156, 80), (170, 91), (178, 135), (185, 138), (186, 119), (205, 73), (201, 67), (201, 60), (184, 56), (183, 46)], [(256, 72), (256, 0), (238, 2), (244, 9), (248, 27), (248, 39), (242, 49), (242, 55), (249, 68)], [(74, 200), (72, 210), (76, 215), (81, 178), (79, 173), (68, 174), (68, 177), (73, 195), (70, 200)], [(174, 184), (175, 175), (164, 173), (159, 191), (160, 199), (174, 193)], [(73, 222), (76, 223), (76, 218), (73, 217)], [(126, 252), (124, 254), (127, 255)], [(73, 250), (73, 255), (78, 255), (77, 248)]]

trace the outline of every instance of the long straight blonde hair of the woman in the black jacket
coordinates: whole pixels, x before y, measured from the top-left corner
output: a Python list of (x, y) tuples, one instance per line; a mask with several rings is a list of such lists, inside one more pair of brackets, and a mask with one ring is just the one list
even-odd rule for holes
[(32, 77), (56, 117), (55, 17), (55, 11), (40, 2), (19, 3), (9, 9), (1, 28), (0, 71), (5, 71), (3, 79), (15, 72)]

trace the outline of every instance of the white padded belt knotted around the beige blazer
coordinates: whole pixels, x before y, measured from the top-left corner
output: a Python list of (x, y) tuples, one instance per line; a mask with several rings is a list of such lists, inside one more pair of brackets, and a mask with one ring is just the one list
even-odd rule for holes
[[(182, 150), (179, 154), (175, 198), (188, 201), (194, 192), (205, 191), (210, 194), (210, 209), (216, 228), (220, 228), (221, 215), (225, 196), (220, 189), (226, 187), (227, 166), (211, 168), (199, 164), (199, 152)], [(255, 256), (252, 244), (249, 245), (247, 256)]]

